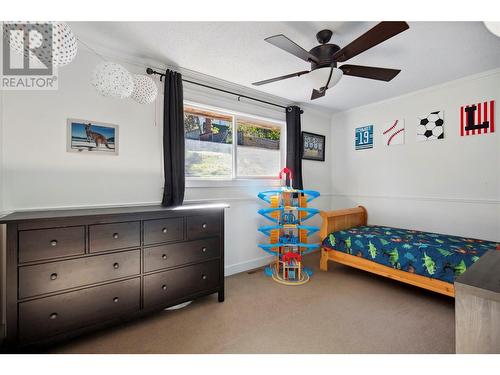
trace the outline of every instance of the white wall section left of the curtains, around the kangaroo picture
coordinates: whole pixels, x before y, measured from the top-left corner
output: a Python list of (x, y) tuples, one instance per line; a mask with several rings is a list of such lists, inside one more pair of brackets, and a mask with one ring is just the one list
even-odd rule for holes
[[(89, 77), (99, 62), (79, 51), (60, 69), (58, 90), (5, 93), (6, 209), (157, 200), (161, 125), (154, 106), (97, 95)], [(67, 118), (118, 124), (120, 156), (66, 152)]]

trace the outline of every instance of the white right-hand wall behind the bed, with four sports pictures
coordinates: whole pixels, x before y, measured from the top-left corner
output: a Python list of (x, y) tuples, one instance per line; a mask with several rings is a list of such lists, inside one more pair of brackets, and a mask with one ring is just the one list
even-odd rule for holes
[[(366, 206), (371, 224), (500, 241), (500, 137), (460, 137), (460, 106), (500, 104), (500, 70), (335, 114), (330, 144), (332, 207)], [(417, 116), (444, 110), (445, 138), (417, 142)], [(406, 144), (381, 129), (404, 118)], [(355, 128), (374, 124), (374, 148), (355, 151)]]

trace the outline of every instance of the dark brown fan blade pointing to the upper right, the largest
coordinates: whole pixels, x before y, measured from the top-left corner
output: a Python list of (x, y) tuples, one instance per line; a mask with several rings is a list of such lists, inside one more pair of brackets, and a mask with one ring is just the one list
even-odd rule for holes
[(361, 52), (366, 51), (383, 41), (409, 29), (410, 26), (404, 21), (384, 21), (368, 30), (358, 39), (339, 50), (333, 55), (335, 61), (347, 61)]

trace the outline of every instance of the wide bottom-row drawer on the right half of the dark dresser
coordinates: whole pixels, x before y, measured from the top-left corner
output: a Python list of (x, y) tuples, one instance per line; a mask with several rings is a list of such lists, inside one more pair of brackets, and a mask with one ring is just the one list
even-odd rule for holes
[(144, 277), (144, 308), (167, 306), (182, 297), (215, 289), (219, 285), (218, 260)]

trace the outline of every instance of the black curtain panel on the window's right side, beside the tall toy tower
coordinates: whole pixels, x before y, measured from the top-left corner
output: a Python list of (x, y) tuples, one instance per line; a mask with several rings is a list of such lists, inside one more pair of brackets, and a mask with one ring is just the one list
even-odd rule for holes
[(286, 109), (286, 166), (292, 171), (292, 187), (300, 190), (303, 189), (301, 114), (302, 110), (297, 106)]

